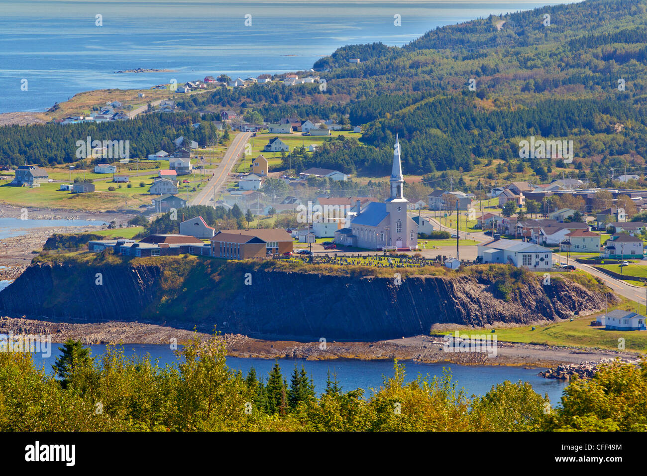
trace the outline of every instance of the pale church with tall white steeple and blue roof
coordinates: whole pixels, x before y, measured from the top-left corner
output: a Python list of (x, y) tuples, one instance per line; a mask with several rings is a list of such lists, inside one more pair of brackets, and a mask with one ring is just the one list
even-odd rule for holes
[(395, 139), (391, 196), (384, 203), (370, 202), (362, 209), (356, 205), (356, 215), (350, 225), (334, 233), (334, 242), (358, 248), (397, 249), (411, 251), (418, 245), (418, 225), (406, 213), (409, 201), (404, 198), (404, 177), (400, 161), (400, 142)]

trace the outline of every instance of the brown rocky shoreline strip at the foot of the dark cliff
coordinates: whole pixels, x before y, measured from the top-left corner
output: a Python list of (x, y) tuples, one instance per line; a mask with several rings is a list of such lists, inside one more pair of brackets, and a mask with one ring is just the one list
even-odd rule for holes
[[(45, 320), (47, 319), (47, 320)], [(74, 323), (39, 317), (0, 317), (0, 334), (52, 335), (52, 343), (67, 339), (82, 341), (85, 345), (153, 344), (168, 345), (171, 339), (186, 343), (193, 337), (208, 339), (210, 334), (176, 328), (167, 323), (153, 324), (133, 321), (102, 323)], [(241, 334), (222, 334), (227, 355), (256, 359), (314, 360), (393, 360), (418, 363), (448, 363), (455, 365), (483, 365), (529, 368), (552, 368), (558, 365), (581, 365), (591, 362), (624, 359), (638, 361), (635, 352), (620, 352), (600, 348), (558, 347), (525, 343), (498, 342), (496, 356), (484, 352), (445, 352), (444, 341), (429, 335), (374, 342), (336, 342), (325, 346), (320, 342), (270, 341), (254, 339)]]

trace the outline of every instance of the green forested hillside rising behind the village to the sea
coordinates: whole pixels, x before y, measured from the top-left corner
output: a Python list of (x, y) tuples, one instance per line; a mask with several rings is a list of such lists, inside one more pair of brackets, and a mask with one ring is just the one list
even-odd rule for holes
[[(330, 139), (314, 153), (292, 151), (284, 163), (297, 172), (325, 166), (384, 175), (399, 133), (405, 174), (469, 172), (494, 160), (537, 181), (559, 172), (602, 185), (609, 168), (644, 172), (646, 23), (647, 0), (587, 0), (436, 28), (404, 47), (348, 45), (314, 64), (326, 80), (323, 91), (280, 82), (221, 87), (179, 102), (186, 115), (0, 128), (0, 157), (12, 164), (70, 161), (72, 139), (85, 135), (129, 139), (134, 155), (178, 135), (202, 145), (213, 131), (208, 122), (189, 126), (197, 114), (209, 121), (234, 109), (268, 122), (296, 116), (364, 126), (361, 142)], [(531, 136), (573, 141), (572, 163), (521, 159), (519, 143)]]

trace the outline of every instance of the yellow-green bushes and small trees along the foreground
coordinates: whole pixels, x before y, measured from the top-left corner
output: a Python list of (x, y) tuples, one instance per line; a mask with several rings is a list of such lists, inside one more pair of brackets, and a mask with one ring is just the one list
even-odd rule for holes
[(404, 383), (395, 362), (375, 394), (344, 392), (336, 378), (316, 397), (296, 366), (290, 383), (278, 363), (267, 380), (226, 367), (221, 337), (184, 346), (160, 367), (108, 348), (98, 362), (73, 342), (57, 362), (61, 380), (30, 354), (0, 352), (0, 431), (559, 431), (647, 429), (647, 367), (606, 365), (574, 380), (562, 408), (529, 383), (505, 383), (468, 398), (451, 375)]

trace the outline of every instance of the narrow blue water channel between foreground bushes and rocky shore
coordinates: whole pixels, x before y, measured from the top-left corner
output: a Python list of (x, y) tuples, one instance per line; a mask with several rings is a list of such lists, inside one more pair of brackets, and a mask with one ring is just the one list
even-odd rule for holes
[[(34, 354), (34, 363), (41, 367), (45, 365), (45, 370), (51, 373), (52, 364), (56, 357), (60, 355), (57, 344), (52, 344), (52, 355), (44, 358), (41, 354)], [(104, 345), (91, 345), (93, 356), (98, 356), (105, 352)], [(124, 354), (126, 356), (146, 356), (149, 354), (151, 360), (159, 359), (159, 365), (171, 364), (176, 361), (173, 351), (167, 345), (144, 345), (129, 344), (124, 345)], [(300, 359), (279, 359), (281, 372), (289, 381), (294, 364), (299, 368), (305, 367), (307, 372), (313, 376), (315, 390), (321, 393), (325, 390), (325, 381), (327, 372), (330, 370), (337, 373), (337, 380), (342, 385), (344, 391), (350, 391), (357, 388), (364, 389), (365, 396), (370, 396), (370, 389), (379, 389), (384, 381), (384, 376), (393, 377), (393, 361), (358, 361), (358, 360), (335, 360), (335, 361), (305, 361)], [(490, 391), (492, 385), (503, 383), (505, 380), (512, 382), (528, 381), (531, 383), (534, 391), (542, 394), (548, 394), (553, 405), (560, 402), (562, 391), (566, 384), (562, 381), (545, 379), (538, 377), (537, 373), (542, 369), (527, 369), (522, 367), (476, 367), (473, 365), (448, 365), (435, 363), (413, 363), (405, 362), (406, 380), (415, 380), (418, 374), (423, 376), (442, 376), (443, 367), (452, 370), (453, 380), (457, 381), (458, 387), (465, 388), (468, 396), (472, 394), (483, 395)], [(250, 368), (256, 369), (258, 376), (263, 376), (267, 380), (267, 375), (274, 366), (274, 360), (270, 359), (241, 359), (237, 357), (227, 357), (228, 367), (234, 370), (241, 370), (243, 376), (247, 375)]]

